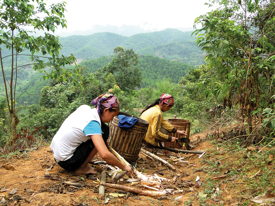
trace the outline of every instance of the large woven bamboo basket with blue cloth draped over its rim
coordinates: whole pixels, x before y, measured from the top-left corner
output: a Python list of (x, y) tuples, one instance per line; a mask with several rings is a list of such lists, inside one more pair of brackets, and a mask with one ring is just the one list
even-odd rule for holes
[(109, 144), (116, 150), (125, 160), (136, 162), (138, 154), (142, 146), (142, 140), (145, 137), (149, 123), (141, 118), (138, 118), (127, 113), (119, 112), (118, 115), (135, 117), (138, 119), (132, 129), (122, 130), (118, 127), (119, 118), (115, 116), (110, 124)]

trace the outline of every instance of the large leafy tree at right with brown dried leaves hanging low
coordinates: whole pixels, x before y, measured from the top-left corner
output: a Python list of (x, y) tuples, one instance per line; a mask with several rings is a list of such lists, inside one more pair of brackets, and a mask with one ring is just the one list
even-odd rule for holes
[(209, 68), (215, 67), (222, 78), (204, 79), (203, 94), (223, 96), (229, 108), (239, 104), (251, 133), (253, 115), (274, 107), (274, 1), (212, 2), (221, 8), (198, 17), (195, 24), (202, 28), (194, 33), (207, 52)]

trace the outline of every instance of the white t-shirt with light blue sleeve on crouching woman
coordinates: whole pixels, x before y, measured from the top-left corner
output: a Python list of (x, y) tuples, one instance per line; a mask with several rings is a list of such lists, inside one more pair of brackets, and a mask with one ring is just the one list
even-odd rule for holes
[(90, 135), (102, 135), (101, 121), (96, 108), (81, 105), (63, 122), (54, 135), (50, 148), (57, 161), (73, 156), (79, 144), (90, 139)]

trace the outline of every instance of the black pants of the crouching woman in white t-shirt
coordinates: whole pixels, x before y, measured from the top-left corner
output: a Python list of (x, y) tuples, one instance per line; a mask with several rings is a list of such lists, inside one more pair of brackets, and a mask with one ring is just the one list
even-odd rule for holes
[[(101, 130), (103, 132), (102, 138), (106, 141), (109, 138), (110, 135), (110, 129), (109, 126), (103, 122), (101, 122)], [(73, 156), (70, 157), (67, 160), (59, 161), (57, 164), (59, 164), (63, 169), (68, 170), (74, 170), (79, 168), (79, 166), (82, 165), (82, 163), (87, 159), (89, 154), (91, 153), (92, 149), (94, 149), (95, 145), (92, 141), (92, 139), (87, 140), (86, 142), (81, 143), (73, 153)]]

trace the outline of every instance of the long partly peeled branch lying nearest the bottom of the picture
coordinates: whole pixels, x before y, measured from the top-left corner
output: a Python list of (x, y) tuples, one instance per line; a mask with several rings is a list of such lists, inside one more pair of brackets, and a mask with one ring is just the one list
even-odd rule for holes
[(135, 189), (135, 188), (131, 188), (131, 187), (123, 186), (123, 185), (111, 184), (111, 183), (97, 182), (97, 184), (103, 185), (103, 186), (109, 187), (109, 188), (114, 188), (117, 190), (122, 190), (125, 192), (149, 196), (149, 197), (161, 197), (161, 196), (166, 195), (166, 191), (164, 191), (164, 190), (163, 191), (144, 191), (144, 190), (139, 190), (139, 189)]

